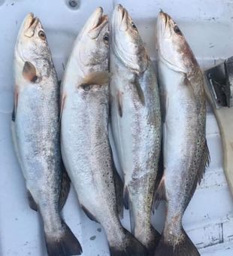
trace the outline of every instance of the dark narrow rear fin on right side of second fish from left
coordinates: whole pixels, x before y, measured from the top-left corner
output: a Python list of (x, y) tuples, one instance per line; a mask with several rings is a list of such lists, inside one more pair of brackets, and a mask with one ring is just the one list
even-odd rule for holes
[(123, 218), (123, 208), (124, 208), (124, 201), (123, 201), (123, 181), (120, 178), (119, 173), (116, 171), (116, 168), (113, 168), (113, 179), (115, 183), (116, 189), (116, 206), (117, 206), (117, 213), (120, 218)]

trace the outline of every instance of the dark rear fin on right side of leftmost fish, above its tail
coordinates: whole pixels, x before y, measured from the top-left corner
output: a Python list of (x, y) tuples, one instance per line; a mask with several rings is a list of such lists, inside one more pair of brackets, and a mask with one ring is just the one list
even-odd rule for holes
[(68, 176), (68, 173), (65, 170), (65, 166), (62, 163), (62, 183), (59, 197), (59, 211), (62, 210), (63, 206), (65, 206), (65, 202), (67, 200), (69, 191), (71, 187), (71, 180)]

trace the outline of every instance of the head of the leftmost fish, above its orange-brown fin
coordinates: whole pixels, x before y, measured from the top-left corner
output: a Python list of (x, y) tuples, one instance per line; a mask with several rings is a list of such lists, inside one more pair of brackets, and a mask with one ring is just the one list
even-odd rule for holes
[(16, 56), (21, 61), (33, 62), (35, 59), (49, 58), (50, 50), (41, 21), (29, 13), (23, 20), (17, 37)]

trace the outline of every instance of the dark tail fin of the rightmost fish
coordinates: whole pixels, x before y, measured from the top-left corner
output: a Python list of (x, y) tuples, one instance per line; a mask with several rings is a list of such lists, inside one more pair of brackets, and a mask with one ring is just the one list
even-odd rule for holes
[(182, 228), (182, 238), (173, 242), (168, 242), (165, 237), (159, 241), (159, 245), (156, 247), (154, 256), (200, 256), (198, 249), (192, 243), (189, 236)]

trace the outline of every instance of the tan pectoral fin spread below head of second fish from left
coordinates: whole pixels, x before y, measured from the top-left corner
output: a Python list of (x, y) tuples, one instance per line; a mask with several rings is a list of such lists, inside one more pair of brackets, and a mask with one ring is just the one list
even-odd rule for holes
[(108, 84), (110, 81), (110, 72), (91, 72), (83, 78), (80, 83), (80, 87), (89, 87), (91, 85), (103, 85)]

